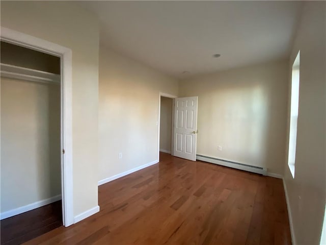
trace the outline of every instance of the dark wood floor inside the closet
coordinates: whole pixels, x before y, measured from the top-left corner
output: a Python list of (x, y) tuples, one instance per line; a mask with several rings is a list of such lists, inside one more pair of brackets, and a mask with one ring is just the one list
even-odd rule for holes
[(0, 222), (2, 245), (21, 244), (62, 226), (61, 201), (21, 213)]

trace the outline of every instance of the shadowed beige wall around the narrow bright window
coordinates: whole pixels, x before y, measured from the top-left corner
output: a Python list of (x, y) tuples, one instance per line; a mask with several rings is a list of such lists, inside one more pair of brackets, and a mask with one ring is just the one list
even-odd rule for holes
[[(291, 67), (300, 50), (300, 95), (294, 179), (287, 164), (284, 170), (296, 244), (319, 244), (325, 210), (325, 9), (325, 2), (305, 3), (289, 62)], [(288, 73), (290, 72), (289, 69)]]

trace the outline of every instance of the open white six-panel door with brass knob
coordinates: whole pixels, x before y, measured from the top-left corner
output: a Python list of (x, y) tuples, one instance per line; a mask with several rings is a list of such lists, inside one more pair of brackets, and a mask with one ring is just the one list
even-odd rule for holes
[(175, 99), (173, 155), (196, 161), (198, 97)]

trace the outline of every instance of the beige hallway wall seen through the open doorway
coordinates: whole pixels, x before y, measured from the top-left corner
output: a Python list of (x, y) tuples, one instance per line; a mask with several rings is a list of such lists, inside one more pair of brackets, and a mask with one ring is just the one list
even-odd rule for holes
[(173, 99), (161, 97), (159, 149), (171, 152)]

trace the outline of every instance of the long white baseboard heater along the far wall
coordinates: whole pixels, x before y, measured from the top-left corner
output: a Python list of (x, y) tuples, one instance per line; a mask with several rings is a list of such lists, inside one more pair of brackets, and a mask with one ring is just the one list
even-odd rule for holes
[(267, 169), (264, 167), (257, 167), (257, 166), (251, 166), (243, 163), (238, 163), (238, 162), (232, 162), (228, 160), (223, 160), (223, 159), (218, 159), (218, 158), (213, 158), (213, 157), (207, 157), (203, 155), (196, 155), (196, 159), (204, 162), (209, 162), (209, 163), (214, 163), (226, 167), (232, 167), (244, 171), (249, 171), (252, 173), (256, 174), (261, 174), (261, 175), (266, 175), (267, 174)]

